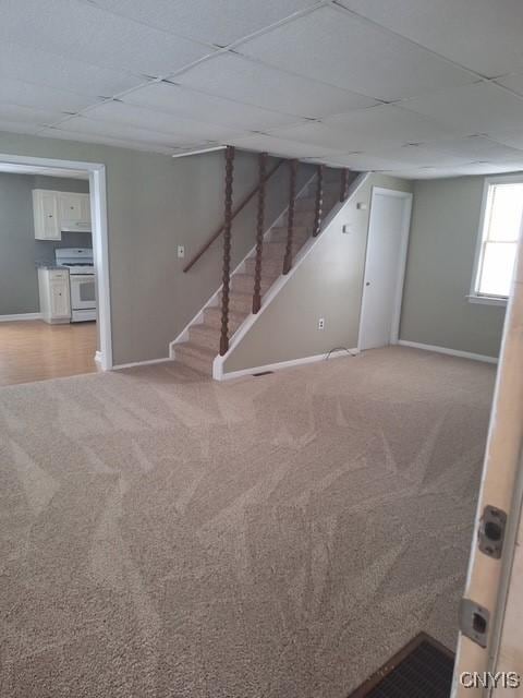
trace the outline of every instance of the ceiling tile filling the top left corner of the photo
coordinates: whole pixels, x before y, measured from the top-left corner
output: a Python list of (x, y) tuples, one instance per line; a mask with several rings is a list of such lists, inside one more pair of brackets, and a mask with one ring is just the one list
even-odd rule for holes
[(211, 52), (200, 44), (70, 0), (2, 0), (0, 40), (155, 76)]

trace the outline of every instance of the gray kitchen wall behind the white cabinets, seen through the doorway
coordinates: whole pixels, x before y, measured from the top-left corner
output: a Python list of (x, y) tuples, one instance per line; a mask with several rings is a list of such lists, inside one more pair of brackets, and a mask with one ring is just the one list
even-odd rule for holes
[(0, 172), (0, 315), (37, 313), (35, 262), (53, 262), (58, 246), (90, 246), (90, 233), (70, 232), (62, 241), (35, 240), (33, 189), (88, 192), (88, 182)]

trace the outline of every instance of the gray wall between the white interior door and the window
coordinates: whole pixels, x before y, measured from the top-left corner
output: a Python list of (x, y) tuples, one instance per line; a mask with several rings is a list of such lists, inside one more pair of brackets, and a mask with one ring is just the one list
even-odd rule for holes
[(401, 339), (499, 354), (504, 308), (470, 303), (483, 177), (414, 184)]

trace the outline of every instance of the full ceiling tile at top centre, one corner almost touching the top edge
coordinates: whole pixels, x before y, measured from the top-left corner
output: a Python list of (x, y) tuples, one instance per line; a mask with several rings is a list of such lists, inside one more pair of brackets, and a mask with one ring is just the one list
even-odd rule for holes
[(399, 99), (473, 81), (472, 73), (335, 7), (320, 8), (250, 39), (238, 51), (378, 99)]

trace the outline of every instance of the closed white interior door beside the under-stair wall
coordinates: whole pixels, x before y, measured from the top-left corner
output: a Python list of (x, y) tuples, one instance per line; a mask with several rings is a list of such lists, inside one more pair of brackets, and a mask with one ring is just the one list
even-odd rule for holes
[(360, 320), (360, 349), (398, 341), (412, 194), (375, 186)]

